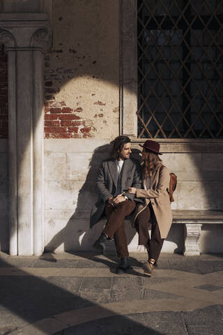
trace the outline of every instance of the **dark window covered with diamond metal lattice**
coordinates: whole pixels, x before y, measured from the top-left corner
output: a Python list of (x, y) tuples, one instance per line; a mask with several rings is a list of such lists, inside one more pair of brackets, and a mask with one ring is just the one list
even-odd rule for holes
[(139, 137), (223, 138), (223, 1), (138, 0)]

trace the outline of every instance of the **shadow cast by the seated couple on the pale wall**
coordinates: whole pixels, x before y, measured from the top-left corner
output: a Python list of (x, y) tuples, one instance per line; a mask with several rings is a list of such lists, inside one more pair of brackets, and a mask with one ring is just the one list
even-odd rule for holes
[[(95, 239), (97, 239), (105, 225), (105, 220), (99, 221), (92, 229), (89, 228), (90, 213), (93, 204), (98, 200), (99, 195), (97, 189), (95, 188), (95, 179), (98, 174), (98, 170), (102, 161), (109, 158), (109, 153), (111, 151), (111, 146), (105, 144), (101, 147), (95, 149), (91, 162), (89, 164), (89, 173), (86, 176), (86, 180), (82, 188), (79, 191), (77, 198), (77, 207), (75, 213), (70, 217), (66, 227), (60, 230), (54, 235), (54, 237), (45, 246), (45, 252), (56, 251), (57, 248), (63, 245), (63, 250), (66, 252), (77, 252), (77, 251), (91, 251), (96, 254), (93, 244)], [(139, 153), (141, 151), (138, 149), (132, 149), (132, 158), (140, 160)], [(49, 224), (49, 223), (48, 223)], [(128, 245), (131, 244), (132, 240), (135, 238), (135, 243), (138, 242), (138, 234), (130, 223), (125, 223), (125, 231), (127, 234)], [(181, 232), (181, 230), (180, 230)], [(169, 232), (169, 236), (165, 243), (173, 244), (176, 253), (183, 251), (183, 232), (178, 234), (176, 227), (172, 227)], [(176, 248), (176, 245), (178, 246)], [(182, 248), (181, 248), (182, 246)], [(115, 251), (114, 241), (107, 241), (106, 250)], [(144, 250), (143, 250), (144, 251)]]

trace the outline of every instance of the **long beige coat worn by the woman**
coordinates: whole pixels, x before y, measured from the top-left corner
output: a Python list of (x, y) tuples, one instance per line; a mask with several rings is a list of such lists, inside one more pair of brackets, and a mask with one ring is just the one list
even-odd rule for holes
[[(162, 169), (160, 170), (161, 166)], [(136, 193), (137, 198), (144, 198), (145, 203), (137, 205), (134, 221), (139, 212), (144, 210), (149, 202), (151, 202), (162, 239), (167, 237), (173, 220), (171, 202), (167, 192), (169, 189), (169, 180), (169, 170), (160, 163), (151, 177), (151, 188), (146, 191), (145, 181), (143, 181), (144, 189), (137, 189)]]

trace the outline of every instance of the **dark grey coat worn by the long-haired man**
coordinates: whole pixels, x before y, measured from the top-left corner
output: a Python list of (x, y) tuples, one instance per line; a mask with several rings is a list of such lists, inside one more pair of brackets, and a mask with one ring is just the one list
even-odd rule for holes
[[(90, 228), (100, 220), (105, 209), (105, 202), (116, 194), (118, 186), (118, 169), (116, 159), (104, 161), (98, 173), (96, 187), (100, 199), (91, 210)], [(141, 188), (139, 161), (132, 158), (126, 159), (123, 163), (123, 174), (121, 179), (121, 193), (131, 200), (137, 200), (134, 194), (128, 193), (129, 187)]]

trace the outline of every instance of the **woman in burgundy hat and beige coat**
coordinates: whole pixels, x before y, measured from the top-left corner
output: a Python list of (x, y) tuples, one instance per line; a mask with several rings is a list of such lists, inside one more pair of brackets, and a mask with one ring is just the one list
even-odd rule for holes
[[(160, 144), (147, 140), (141, 147), (144, 189), (130, 187), (128, 191), (136, 194), (137, 198), (144, 198), (144, 204), (137, 205), (134, 226), (139, 234), (139, 245), (144, 245), (148, 251), (148, 262), (143, 265), (144, 274), (151, 276), (173, 219), (168, 193), (170, 175), (159, 157), (162, 155)], [(149, 221), (152, 223), (151, 238)]]

